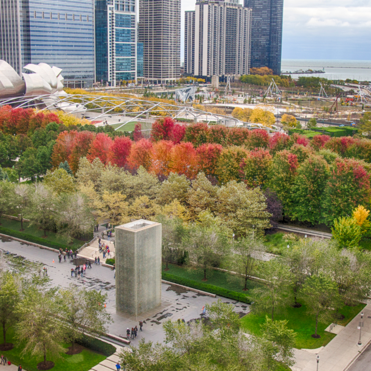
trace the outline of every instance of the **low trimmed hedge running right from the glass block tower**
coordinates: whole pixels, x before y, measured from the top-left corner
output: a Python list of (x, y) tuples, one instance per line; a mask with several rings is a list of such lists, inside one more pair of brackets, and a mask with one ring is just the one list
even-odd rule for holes
[(224, 298), (238, 300), (240, 302), (247, 303), (247, 304), (251, 303), (249, 297), (241, 292), (227, 290), (219, 286), (209, 285), (208, 283), (197, 282), (194, 280), (190, 280), (187, 278), (181, 278), (178, 276), (174, 276), (170, 273), (164, 273), (164, 272), (162, 272), (162, 279), (170, 281), (170, 282), (178, 283), (179, 285), (184, 285), (184, 286), (188, 286), (194, 289), (210, 292), (212, 294), (216, 294), (219, 296), (224, 296)]

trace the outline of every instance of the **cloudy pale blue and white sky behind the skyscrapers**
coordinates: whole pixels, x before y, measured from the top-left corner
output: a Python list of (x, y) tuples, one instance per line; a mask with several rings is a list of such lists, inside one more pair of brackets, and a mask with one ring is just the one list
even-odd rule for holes
[[(181, 60), (184, 11), (195, 3), (181, 2)], [(284, 0), (282, 58), (371, 60), (371, 0)]]

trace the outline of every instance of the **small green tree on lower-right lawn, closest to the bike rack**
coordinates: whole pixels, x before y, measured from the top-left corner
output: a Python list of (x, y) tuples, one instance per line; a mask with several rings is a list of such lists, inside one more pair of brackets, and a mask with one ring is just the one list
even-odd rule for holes
[(324, 273), (308, 277), (302, 289), (308, 314), (315, 316), (316, 329), (313, 338), (320, 338), (317, 334), (318, 322), (325, 322), (333, 319), (334, 309), (342, 305), (338, 288), (334, 280)]

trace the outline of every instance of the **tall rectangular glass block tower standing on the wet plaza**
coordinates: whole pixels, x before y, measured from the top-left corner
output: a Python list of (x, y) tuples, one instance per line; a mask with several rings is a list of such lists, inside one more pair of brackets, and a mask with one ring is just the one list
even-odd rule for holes
[(161, 304), (161, 231), (144, 219), (115, 228), (117, 311), (139, 315)]

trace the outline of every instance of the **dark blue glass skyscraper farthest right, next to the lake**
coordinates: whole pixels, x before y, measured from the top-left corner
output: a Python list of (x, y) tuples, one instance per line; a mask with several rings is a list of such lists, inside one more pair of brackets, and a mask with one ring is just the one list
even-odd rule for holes
[(281, 73), (283, 0), (244, 0), (252, 9), (251, 65)]

